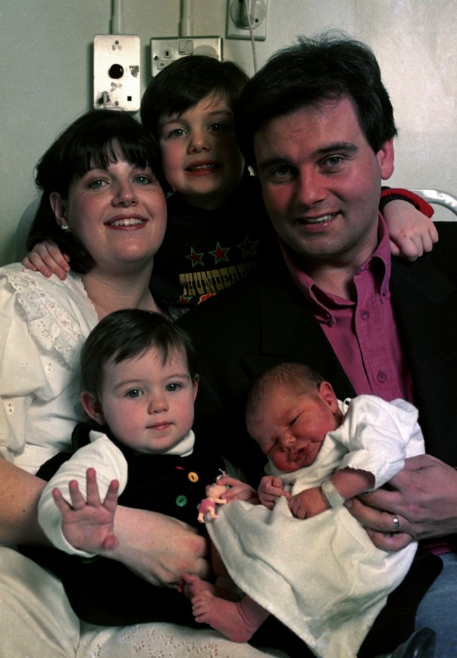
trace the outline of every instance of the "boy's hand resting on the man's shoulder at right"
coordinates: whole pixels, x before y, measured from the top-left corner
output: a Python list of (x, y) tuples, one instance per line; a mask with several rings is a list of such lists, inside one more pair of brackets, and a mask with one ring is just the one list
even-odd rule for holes
[(416, 260), (424, 252), (431, 252), (438, 242), (434, 223), (407, 201), (395, 199), (382, 211), (391, 240), (393, 256)]

